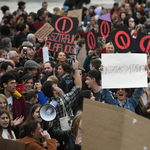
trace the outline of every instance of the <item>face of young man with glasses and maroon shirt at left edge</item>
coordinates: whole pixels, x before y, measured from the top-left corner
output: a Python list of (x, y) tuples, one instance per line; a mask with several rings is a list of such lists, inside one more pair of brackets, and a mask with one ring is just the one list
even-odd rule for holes
[(7, 90), (10, 93), (14, 93), (16, 90), (16, 80), (10, 80), (8, 84), (3, 84), (5, 90)]

